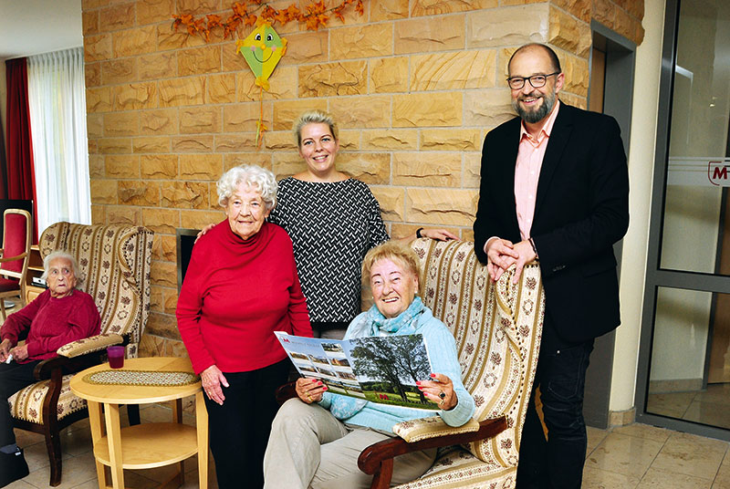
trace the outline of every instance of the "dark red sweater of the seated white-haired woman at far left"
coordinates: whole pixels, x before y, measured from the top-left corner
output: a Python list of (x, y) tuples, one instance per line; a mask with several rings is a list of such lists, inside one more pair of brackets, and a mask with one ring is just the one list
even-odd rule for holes
[(27, 363), (56, 357), (56, 350), (67, 343), (98, 335), (100, 324), (99, 309), (86, 292), (77, 289), (70, 296), (54, 298), (46, 290), (7, 317), (0, 339), (10, 339), (15, 345), (18, 337), (30, 329), (26, 338), (28, 358), (18, 361)]

